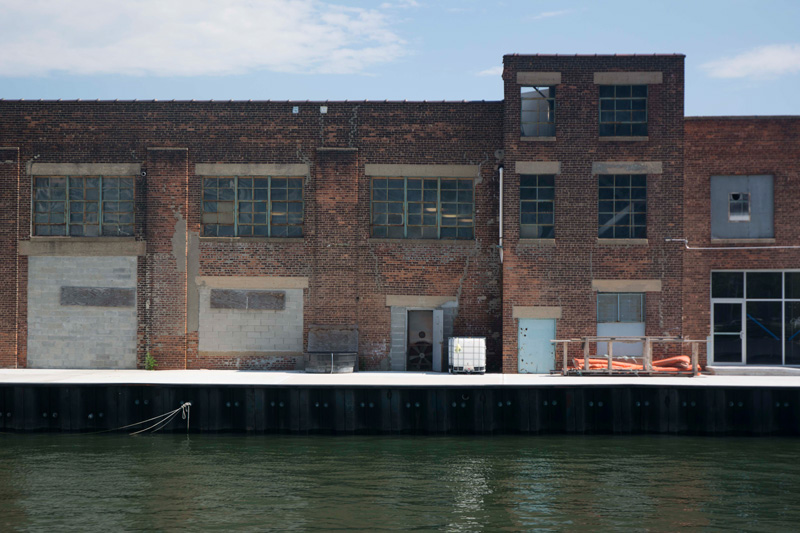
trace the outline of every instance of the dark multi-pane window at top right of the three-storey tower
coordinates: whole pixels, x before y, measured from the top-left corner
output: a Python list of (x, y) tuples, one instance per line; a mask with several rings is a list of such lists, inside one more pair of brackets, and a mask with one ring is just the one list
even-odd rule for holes
[(647, 85), (600, 86), (600, 136), (647, 135)]

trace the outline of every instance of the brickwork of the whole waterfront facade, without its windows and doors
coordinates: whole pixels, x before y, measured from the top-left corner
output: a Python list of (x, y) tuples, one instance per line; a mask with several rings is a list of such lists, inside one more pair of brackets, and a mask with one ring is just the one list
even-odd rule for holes
[[(333, 325), (357, 326), (362, 369), (402, 369), (404, 313), (440, 309), (449, 334), (487, 337), (489, 371), (514, 373), (515, 309), (557, 309), (558, 338), (595, 335), (598, 282), (655, 287), (648, 335), (705, 338), (712, 269), (788, 269), (800, 255), (691, 251), (666, 239), (713, 246), (709, 176), (758, 173), (775, 177), (775, 244), (797, 244), (800, 120), (685, 119), (683, 64), (680, 55), (506, 56), (500, 102), (0, 101), (0, 366), (27, 365), (29, 256), (113, 255), (98, 242), (136, 258), (140, 368), (150, 353), (159, 369), (291, 369), (309, 328)], [(557, 90), (555, 135), (544, 140), (520, 134), (520, 89), (537, 79)], [(600, 137), (605, 83), (647, 85), (646, 137)], [(135, 236), (31, 236), (34, 169), (75, 163), (141, 168)], [(203, 236), (205, 173), (248, 165), (304, 169), (302, 237)], [(385, 168), (407, 178), (467, 169), (475, 238), (372, 238), (371, 181)], [(520, 175), (537, 168), (558, 171), (541, 172), (556, 174), (554, 239), (520, 238)], [(598, 239), (598, 176), (619, 168), (646, 175), (646, 239)], [(201, 348), (206, 279), (302, 291), (302, 350)]]

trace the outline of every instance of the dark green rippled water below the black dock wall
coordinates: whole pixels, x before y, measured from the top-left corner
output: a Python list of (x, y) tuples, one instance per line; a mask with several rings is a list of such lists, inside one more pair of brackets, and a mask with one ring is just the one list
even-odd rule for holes
[(661, 436), (0, 435), (0, 529), (794, 531), (798, 446)]

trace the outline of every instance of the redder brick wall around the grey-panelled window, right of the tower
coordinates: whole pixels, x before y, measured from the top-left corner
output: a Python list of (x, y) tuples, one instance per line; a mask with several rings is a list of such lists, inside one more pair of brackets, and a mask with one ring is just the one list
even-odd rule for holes
[[(800, 117), (696, 117), (686, 119), (685, 228), (693, 247), (798, 246), (800, 225)], [(771, 174), (774, 242), (711, 241), (711, 176)], [(711, 333), (711, 271), (797, 269), (800, 249), (686, 250), (684, 335)], [(705, 362), (705, 353), (703, 353)]]

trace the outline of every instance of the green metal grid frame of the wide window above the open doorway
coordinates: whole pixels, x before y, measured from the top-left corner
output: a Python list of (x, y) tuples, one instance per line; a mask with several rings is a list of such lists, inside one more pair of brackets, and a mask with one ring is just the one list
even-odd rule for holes
[[(403, 200), (402, 200), (402, 202), (397, 201), (397, 200), (394, 200), (394, 201), (390, 202), (388, 200), (388, 196), (387, 196), (386, 200), (375, 200), (375, 183), (378, 180), (386, 180), (387, 181), (387, 189), (386, 189), (387, 191), (396, 190), (396, 189), (389, 189), (388, 182), (390, 180), (403, 180)], [(414, 204), (415, 203), (422, 203), (422, 204), (426, 203), (424, 201), (424, 191), (425, 191), (425, 188), (424, 188), (425, 185), (424, 184), (425, 184), (425, 181), (436, 180), (436, 184), (437, 184), (437, 187), (436, 187), (436, 237), (409, 236), (408, 235), (409, 227), (432, 227), (430, 225), (422, 225), (422, 226), (413, 225), (413, 226), (411, 226), (408, 223), (408, 218), (409, 218), (409, 214), (410, 214), (409, 211), (408, 211), (408, 205), (409, 205), (408, 182), (409, 182), (409, 180), (420, 180), (421, 181), (421, 183), (420, 183), (420, 187), (421, 188), (419, 190), (422, 191), (422, 194), (423, 194), (422, 198), (423, 199), (421, 199), (419, 201), (411, 200), (410, 203), (414, 203)], [(471, 198), (472, 198), (471, 201), (470, 202), (460, 202), (458, 200), (456, 200), (455, 202), (449, 202), (449, 201), (445, 202), (445, 201), (443, 201), (442, 200), (442, 182), (445, 182), (445, 181), (456, 182), (456, 188), (455, 188), (456, 193), (458, 193), (460, 191), (460, 189), (458, 188), (459, 182), (461, 182), (461, 181), (469, 181), (469, 183), (470, 183), (470, 193), (471, 193)], [(416, 189), (412, 189), (412, 190), (416, 190)], [(441, 176), (371, 176), (370, 177), (370, 183), (369, 183), (369, 191), (370, 191), (369, 192), (369, 236), (370, 236), (371, 239), (392, 239), (392, 240), (424, 239), (424, 240), (428, 240), (428, 241), (437, 241), (437, 240), (474, 241), (475, 240), (475, 228), (476, 228), (476, 224), (475, 224), (475, 180), (473, 178), (468, 178), (468, 177), (465, 177), (465, 176), (454, 176), (454, 177), (441, 177)], [(399, 224), (392, 224), (392, 225), (388, 224), (388, 219), (387, 219), (387, 224), (375, 224), (374, 223), (375, 215), (376, 214), (378, 214), (378, 215), (383, 214), (383, 213), (375, 213), (375, 203), (376, 202), (386, 203), (386, 204), (391, 204), (391, 203), (397, 204), (397, 203), (400, 203), (402, 205), (402, 211), (401, 211), (401, 213), (399, 213), (400, 216), (402, 217), (402, 220), (403, 220), (403, 222), (402, 222), (403, 236), (402, 237), (389, 236), (388, 235), (388, 231), (387, 231), (386, 235), (375, 235), (375, 228), (376, 227), (390, 228), (390, 227), (399, 226)], [(466, 204), (466, 203), (469, 203), (470, 208), (471, 208), (470, 209), (470, 218), (472, 220), (472, 224), (470, 226), (459, 226), (459, 225), (456, 225), (456, 226), (445, 226), (445, 225), (442, 224), (442, 219), (443, 219), (442, 204), (455, 204), (456, 206), (459, 206), (459, 205), (463, 205), (463, 204)], [(456, 207), (456, 211), (458, 211), (458, 207)], [(393, 213), (388, 213), (388, 211), (387, 211), (386, 214), (388, 215), (388, 214), (393, 214)], [(394, 213), (394, 214), (397, 214), (397, 213)], [(414, 213), (414, 214), (416, 214), (416, 213)], [(460, 218), (463, 215), (460, 215), (460, 214), (456, 213), (455, 216), (456, 216), (456, 218)], [(458, 237), (457, 236), (458, 235), (458, 229), (459, 228), (466, 228), (466, 227), (471, 228), (470, 237)], [(443, 228), (455, 228), (456, 236), (455, 237), (450, 237), (450, 236), (442, 237), (442, 229)]]

